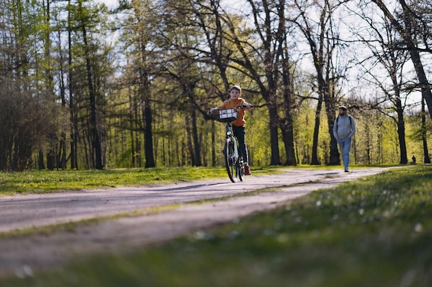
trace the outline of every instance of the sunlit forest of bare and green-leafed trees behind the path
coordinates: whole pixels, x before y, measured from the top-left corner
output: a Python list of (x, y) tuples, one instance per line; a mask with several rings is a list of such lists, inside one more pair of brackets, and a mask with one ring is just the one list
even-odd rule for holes
[(351, 162), (430, 163), (431, 0), (0, 3), (0, 171), (222, 165), (231, 85), (252, 165), (340, 164), (339, 105)]

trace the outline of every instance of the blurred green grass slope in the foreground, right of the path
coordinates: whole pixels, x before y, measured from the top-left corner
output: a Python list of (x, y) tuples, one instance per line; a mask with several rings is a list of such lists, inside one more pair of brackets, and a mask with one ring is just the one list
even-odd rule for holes
[(432, 286), (432, 167), (315, 191), (291, 204), (14, 286)]

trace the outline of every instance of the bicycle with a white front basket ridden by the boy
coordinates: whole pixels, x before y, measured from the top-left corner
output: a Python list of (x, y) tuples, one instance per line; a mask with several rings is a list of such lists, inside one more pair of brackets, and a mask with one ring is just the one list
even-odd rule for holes
[(239, 143), (233, 133), (233, 121), (239, 116), (238, 109), (246, 109), (246, 105), (240, 105), (230, 109), (214, 109), (210, 116), (222, 123), (226, 123), (226, 136), (224, 145), (224, 160), (226, 172), (231, 182), (237, 179), (243, 181), (244, 161), (239, 152)]

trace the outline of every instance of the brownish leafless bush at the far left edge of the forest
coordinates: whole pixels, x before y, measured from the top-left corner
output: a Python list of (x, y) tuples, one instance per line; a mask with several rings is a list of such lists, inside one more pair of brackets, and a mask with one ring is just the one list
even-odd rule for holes
[(33, 151), (57, 130), (55, 103), (23, 91), (12, 77), (3, 74), (0, 80), (0, 171), (28, 169)]

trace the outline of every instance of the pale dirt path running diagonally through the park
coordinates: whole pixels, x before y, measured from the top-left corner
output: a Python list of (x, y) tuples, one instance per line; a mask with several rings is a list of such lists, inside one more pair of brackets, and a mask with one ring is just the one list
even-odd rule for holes
[[(0, 240), (0, 276), (30, 275), (35, 270), (59, 266), (75, 257), (94, 253), (115, 253), (127, 248), (170, 240), (202, 229), (232, 222), (239, 217), (273, 209), (317, 189), (380, 173), (385, 169), (286, 169), (273, 176), (248, 176), (235, 184), (228, 180), (179, 182), (144, 187), (122, 187), (44, 195), (17, 195), (0, 198), (0, 232), (32, 226), (75, 222), (121, 212), (182, 204), (177, 209), (98, 224), (79, 226), (72, 231), (49, 235), (6, 237)], [(282, 187), (274, 192), (187, 204), (197, 200), (222, 198), (266, 187)]]

